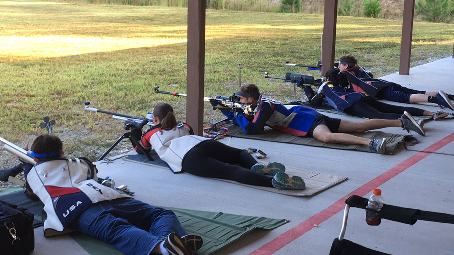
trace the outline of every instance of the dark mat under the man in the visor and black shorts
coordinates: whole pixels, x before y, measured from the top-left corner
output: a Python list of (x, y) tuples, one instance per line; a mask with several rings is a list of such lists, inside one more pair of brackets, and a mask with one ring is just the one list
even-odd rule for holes
[[(234, 123), (229, 123), (226, 125), (222, 125), (229, 129), (229, 135), (232, 137), (239, 137), (239, 138), (246, 138), (246, 139), (255, 139), (255, 140), (262, 140), (262, 141), (270, 141), (270, 142), (278, 142), (278, 143), (287, 143), (287, 144), (300, 144), (300, 145), (309, 145), (309, 146), (317, 146), (317, 147), (325, 147), (331, 149), (354, 149), (358, 151), (364, 152), (372, 152), (377, 153), (374, 150), (370, 149), (367, 145), (352, 145), (352, 144), (327, 144), (316, 140), (313, 137), (301, 137), (301, 136), (294, 136), (289, 135), (284, 132), (273, 130), (270, 127), (265, 127), (262, 133), (257, 135), (247, 135), (244, 133), (242, 128)], [(351, 135), (356, 135), (359, 137), (364, 137), (367, 139), (375, 139), (375, 138), (383, 138), (386, 137), (386, 153), (385, 154), (394, 154), (395, 149), (398, 144), (403, 141), (413, 141), (410, 145), (415, 144), (416, 140), (412, 136), (409, 135), (397, 135), (386, 133), (382, 131), (368, 131), (365, 133), (350, 133)]]

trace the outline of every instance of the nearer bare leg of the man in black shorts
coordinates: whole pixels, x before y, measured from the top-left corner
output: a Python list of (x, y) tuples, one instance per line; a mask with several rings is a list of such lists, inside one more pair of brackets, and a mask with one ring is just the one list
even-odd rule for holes
[[(342, 120), (343, 121), (343, 120)], [(341, 125), (342, 125), (341, 121)], [(400, 122), (400, 120), (397, 120)], [(318, 125), (312, 132), (315, 139), (324, 143), (331, 144), (363, 144), (368, 145), (370, 139), (362, 138), (355, 135), (345, 133), (333, 133), (326, 125)]]

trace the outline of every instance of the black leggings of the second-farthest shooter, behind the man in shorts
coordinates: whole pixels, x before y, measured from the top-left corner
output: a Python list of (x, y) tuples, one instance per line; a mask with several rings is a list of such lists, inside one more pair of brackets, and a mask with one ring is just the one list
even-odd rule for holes
[(423, 109), (409, 106), (395, 106), (373, 99), (358, 101), (352, 106), (345, 108), (344, 111), (363, 118), (385, 120), (397, 120), (404, 114), (404, 111), (408, 111), (413, 116), (424, 115)]

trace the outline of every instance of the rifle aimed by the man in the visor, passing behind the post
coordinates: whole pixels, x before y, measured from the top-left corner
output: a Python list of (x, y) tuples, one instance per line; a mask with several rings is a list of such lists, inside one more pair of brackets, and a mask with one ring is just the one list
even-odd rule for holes
[[(186, 94), (178, 93), (178, 92), (168, 92), (168, 91), (160, 91), (159, 86), (154, 87), (154, 92), (168, 94), (172, 96), (188, 96)], [(203, 101), (209, 102), (211, 97), (204, 96)], [(233, 94), (232, 96), (216, 96), (216, 100), (219, 101), (223, 106), (229, 107), (230, 111), (236, 112), (236, 109), (241, 109), (247, 115), (254, 115), (257, 112), (258, 104), (247, 104), (247, 103), (240, 103), (240, 97)]]

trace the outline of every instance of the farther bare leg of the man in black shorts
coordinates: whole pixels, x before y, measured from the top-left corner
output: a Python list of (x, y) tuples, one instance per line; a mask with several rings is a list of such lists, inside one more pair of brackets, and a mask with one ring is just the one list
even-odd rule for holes
[(341, 120), (341, 125), (339, 125), (338, 132), (363, 133), (365, 131), (373, 129), (401, 126), (402, 121), (400, 120), (382, 120), (382, 119), (371, 119), (363, 121)]

